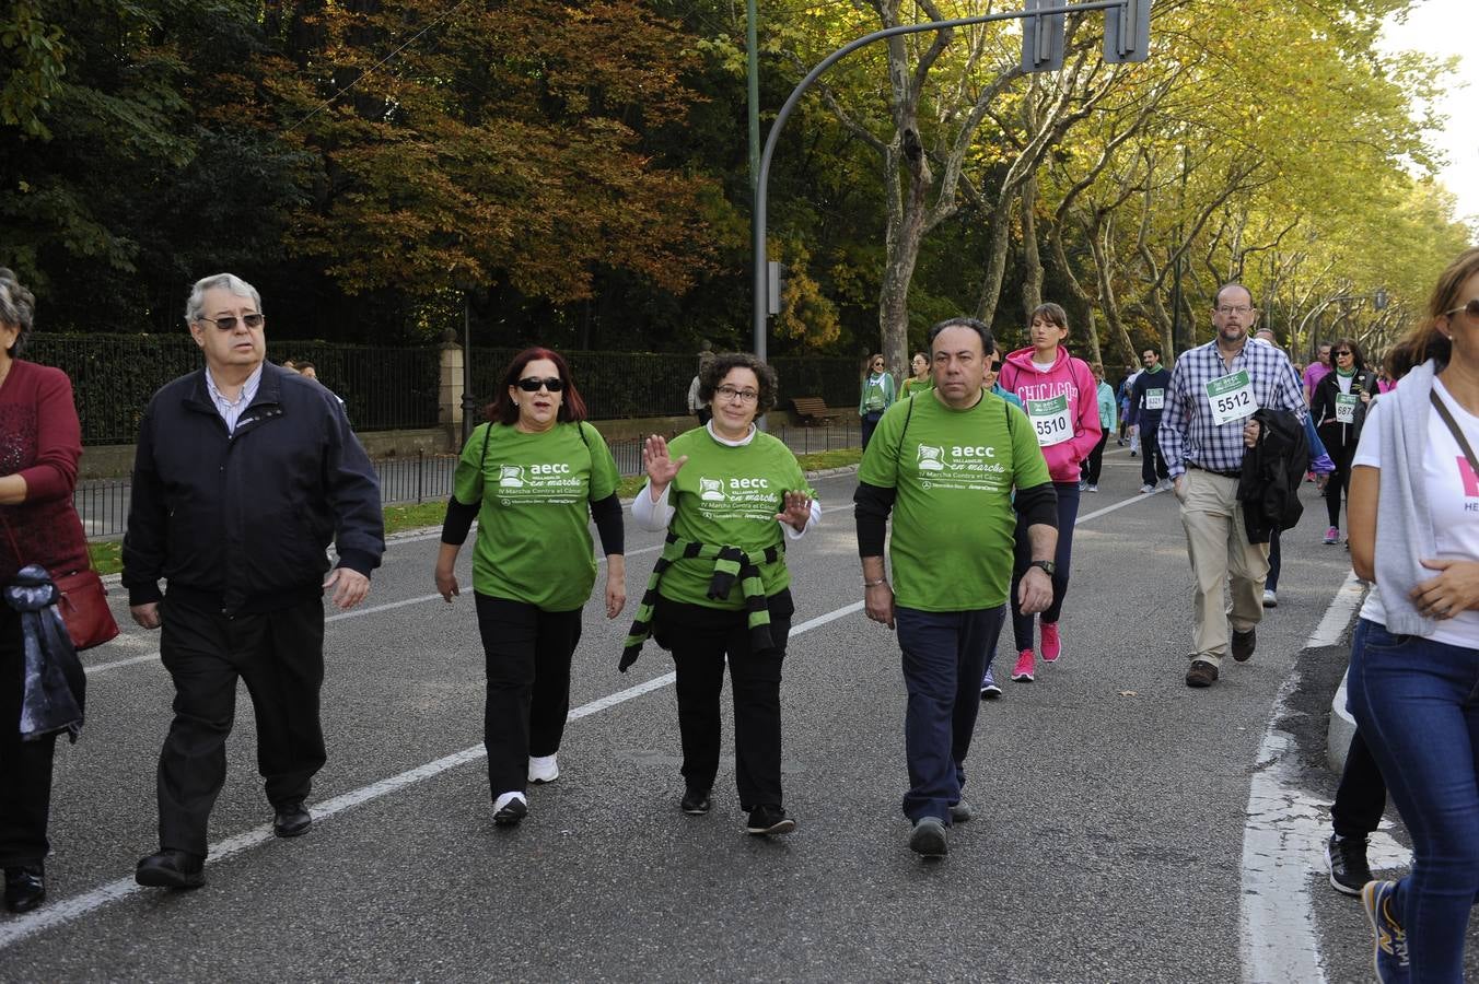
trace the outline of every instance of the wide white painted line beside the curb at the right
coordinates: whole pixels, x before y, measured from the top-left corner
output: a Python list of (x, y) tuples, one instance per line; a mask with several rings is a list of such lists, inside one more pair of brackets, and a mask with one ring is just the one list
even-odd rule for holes
[[(1304, 647), (1321, 649), (1340, 641), (1361, 603), (1361, 592), (1356, 576), (1347, 576)], [(1322, 799), (1294, 782), (1294, 767), (1285, 761), (1294, 751), (1293, 739), (1278, 728), (1297, 689), (1299, 674), (1290, 674), (1273, 699), (1248, 787), (1238, 919), (1245, 984), (1325, 981), (1309, 875), (1324, 866), (1330, 814)]]

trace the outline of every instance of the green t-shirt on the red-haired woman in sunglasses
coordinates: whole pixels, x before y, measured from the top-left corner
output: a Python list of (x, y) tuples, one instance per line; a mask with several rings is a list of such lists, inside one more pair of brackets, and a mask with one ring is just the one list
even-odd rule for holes
[(453, 479), (458, 502), (482, 504), (473, 590), (546, 612), (586, 604), (596, 584), (590, 502), (615, 491), (617, 462), (590, 424), (540, 434), (507, 424), (475, 430)]

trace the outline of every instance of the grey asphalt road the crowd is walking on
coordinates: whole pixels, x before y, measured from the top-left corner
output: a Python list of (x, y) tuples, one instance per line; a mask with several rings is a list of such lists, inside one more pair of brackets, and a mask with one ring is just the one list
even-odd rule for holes
[[(473, 607), (435, 597), (429, 533), (395, 542), (365, 607), (330, 625), (330, 761), (305, 838), (268, 833), (241, 694), (200, 891), (132, 886), (135, 861), (155, 847), (154, 765), (170, 720), (158, 637), (130, 622), (86, 655), (89, 722), (58, 754), (50, 903), (0, 916), (0, 978), (1312, 980), (1290, 977), (1296, 965), (1250, 969), (1270, 944), (1247, 931), (1263, 906), (1307, 934), (1288, 941), (1310, 956), (1313, 980), (1367, 980), (1359, 904), (1315, 866), (1296, 864), (1299, 891), (1275, 892), (1248, 875), (1244, 850), (1269, 734), (1290, 739), (1281, 782), (1316, 804), (1312, 816), (1334, 790), (1321, 765), (1324, 715), (1344, 652), (1306, 641), (1347, 556), (1319, 545), (1310, 486), (1256, 656), (1195, 691), (1182, 683), (1189, 566), (1176, 502), (1136, 495), (1139, 461), (1111, 448), (1075, 536), (1065, 655), (1034, 684), (1001, 674), (1006, 694), (982, 708), (967, 762), (976, 819), (932, 863), (908, 851), (899, 813), (898, 647), (856, 610), (853, 483), (816, 480), (824, 523), (790, 551), (794, 833), (742, 832), (732, 756), (710, 816), (677, 810), (671, 660), (649, 644), (632, 672), (615, 671), (632, 604), (615, 622), (587, 609), (561, 780), (531, 792), (522, 826), (495, 829)], [(634, 525), (627, 535), (634, 603), (658, 536)], [(121, 592), (114, 601), (123, 623)], [(1322, 821), (1291, 827), (1297, 851), (1318, 853)], [(1401, 829), (1390, 836), (1399, 855)]]

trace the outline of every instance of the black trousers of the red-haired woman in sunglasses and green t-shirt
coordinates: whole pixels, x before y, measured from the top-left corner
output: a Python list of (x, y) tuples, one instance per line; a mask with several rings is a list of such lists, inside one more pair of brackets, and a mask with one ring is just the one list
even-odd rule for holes
[(475, 597), (488, 672), (482, 745), (488, 749), (488, 792), (497, 799), (525, 790), (531, 755), (559, 751), (581, 609), (544, 612), (524, 601)]

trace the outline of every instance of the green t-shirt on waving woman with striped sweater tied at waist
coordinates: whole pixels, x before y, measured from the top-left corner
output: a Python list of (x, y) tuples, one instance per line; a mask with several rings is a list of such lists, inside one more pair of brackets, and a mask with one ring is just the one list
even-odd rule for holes
[[(667, 489), (667, 504), (674, 508), (669, 529), (683, 539), (738, 547), (745, 553), (775, 547), (785, 538), (775, 520), (775, 514), (785, 508), (785, 493), (806, 492), (816, 498), (791, 449), (763, 431), (756, 431), (748, 445), (734, 448), (714, 440), (707, 427), (695, 427), (670, 440), (667, 452), (671, 458), (688, 455)], [(637, 495), (649, 492), (643, 486)], [(738, 579), (729, 597), (722, 601), (708, 597), (713, 573), (711, 560), (679, 558), (663, 575), (658, 594), (670, 601), (711, 609), (742, 609), (744, 592)], [(760, 579), (766, 597), (790, 587), (785, 556), (774, 564), (762, 564)]]

